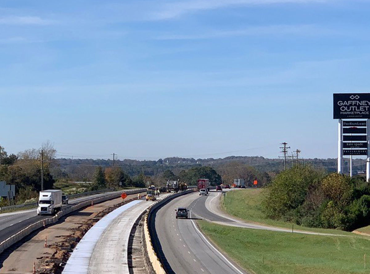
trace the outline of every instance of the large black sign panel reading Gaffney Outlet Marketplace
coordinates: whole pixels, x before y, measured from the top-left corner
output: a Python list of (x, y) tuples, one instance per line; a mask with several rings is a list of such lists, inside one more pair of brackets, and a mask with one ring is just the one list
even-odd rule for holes
[(334, 119), (370, 119), (370, 93), (334, 93)]

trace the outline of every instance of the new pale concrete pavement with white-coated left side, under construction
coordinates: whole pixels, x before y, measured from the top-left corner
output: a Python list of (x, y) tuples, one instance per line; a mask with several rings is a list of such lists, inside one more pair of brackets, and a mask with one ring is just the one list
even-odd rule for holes
[[(167, 194), (159, 196), (163, 199)], [(63, 274), (129, 274), (128, 240), (132, 226), (153, 202), (137, 200), (115, 209), (81, 239)]]

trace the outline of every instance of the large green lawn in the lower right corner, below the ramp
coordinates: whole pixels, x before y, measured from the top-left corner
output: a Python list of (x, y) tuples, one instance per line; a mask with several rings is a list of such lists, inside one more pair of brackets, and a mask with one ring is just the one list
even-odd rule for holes
[[(256, 274), (370, 272), (370, 242), (363, 237), (317, 236), (216, 225), (203, 233), (244, 269)], [(364, 254), (369, 264), (364, 269)]]

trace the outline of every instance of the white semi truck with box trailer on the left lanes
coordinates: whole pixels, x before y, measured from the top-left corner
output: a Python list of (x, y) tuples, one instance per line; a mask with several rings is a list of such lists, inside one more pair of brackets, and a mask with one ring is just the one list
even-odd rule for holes
[(62, 191), (60, 189), (48, 189), (40, 191), (38, 198), (37, 215), (54, 215), (62, 207)]

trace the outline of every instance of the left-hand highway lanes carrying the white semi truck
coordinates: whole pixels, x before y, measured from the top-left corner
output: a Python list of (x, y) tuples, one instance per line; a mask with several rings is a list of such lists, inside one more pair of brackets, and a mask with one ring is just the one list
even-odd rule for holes
[[(113, 194), (116, 192), (105, 192), (91, 196), (84, 196), (69, 201), (68, 205), (63, 205), (63, 208), (73, 206), (77, 203), (88, 201), (90, 199), (99, 198), (101, 196)], [(37, 216), (37, 209), (29, 209), (22, 211), (15, 211), (10, 213), (0, 214), (0, 243), (13, 235), (15, 232), (20, 231), (24, 227), (31, 225), (39, 220), (50, 218), (50, 215)]]

